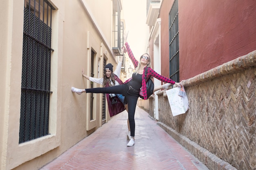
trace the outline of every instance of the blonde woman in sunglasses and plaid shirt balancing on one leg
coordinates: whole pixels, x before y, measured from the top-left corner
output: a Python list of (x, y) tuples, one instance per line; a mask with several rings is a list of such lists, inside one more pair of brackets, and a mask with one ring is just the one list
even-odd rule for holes
[[(86, 88), (83, 91), (86, 93), (115, 93), (125, 96), (128, 103), (128, 119), (130, 124), (130, 136), (131, 139), (127, 146), (133, 146), (135, 144), (135, 108), (137, 105), (137, 99), (139, 97), (139, 91), (142, 90), (142, 97), (148, 99), (146, 82), (150, 77), (155, 77), (162, 82), (175, 84), (181, 86), (180, 83), (174, 82), (172, 79), (159, 75), (155, 72), (151, 66), (150, 56), (145, 53), (141, 55), (139, 61), (137, 61), (130, 49), (127, 42), (127, 34), (124, 34), (124, 41), (126, 42), (126, 49), (133, 65), (135, 66), (135, 73), (132, 74), (132, 78), (124, 82), (119, 86), (103, 87), (103, 88)], [(148, 67), (147, 74), (145, 75), (145, 69)]]

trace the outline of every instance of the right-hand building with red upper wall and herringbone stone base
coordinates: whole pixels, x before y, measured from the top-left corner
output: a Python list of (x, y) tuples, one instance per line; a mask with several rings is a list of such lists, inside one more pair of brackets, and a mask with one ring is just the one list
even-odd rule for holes
[(254, 170), (256, 2), (148, 2), (154, 69), (184, 80), (189, 99), (189, 110), (173, 117), (160, 91), (149, 115), (209, 169)]

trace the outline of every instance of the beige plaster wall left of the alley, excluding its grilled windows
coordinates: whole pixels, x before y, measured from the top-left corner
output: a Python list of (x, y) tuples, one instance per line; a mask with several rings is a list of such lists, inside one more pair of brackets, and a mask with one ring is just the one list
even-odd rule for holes
[[(49, 2), (56, 9), (52, 11), (50, 135), (19, 144), (24, 1), (1, 0), (1, 170), (40, 169), (102, 126), (102, 94), (94, 94), (94, 119), (90, 120), (90, 93), (77, 95), (71, 87), (90, 87), (81, 70), (90, 75), (92, 50), (94, 77), (103, 76), (104, 58), (115, 69), (118, 57), (112, 51), (112, 13), (117, 0)], [(100, 85), (94, 83), (94, 87)]]

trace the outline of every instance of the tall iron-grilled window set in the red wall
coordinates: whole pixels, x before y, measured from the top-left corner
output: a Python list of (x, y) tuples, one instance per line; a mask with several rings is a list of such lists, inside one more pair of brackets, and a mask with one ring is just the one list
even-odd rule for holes
[(175, 0), (169, 13), (169, 74), (175, 82), (180, 82), (178, 14), (178, 0)]

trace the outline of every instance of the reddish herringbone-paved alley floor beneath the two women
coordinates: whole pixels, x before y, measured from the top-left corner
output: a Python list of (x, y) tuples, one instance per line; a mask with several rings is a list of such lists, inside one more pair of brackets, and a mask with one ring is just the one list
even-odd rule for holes
[(40, 170), (208, 170), (139, 107), (135, 123), (132, 147), (124, 111)]

